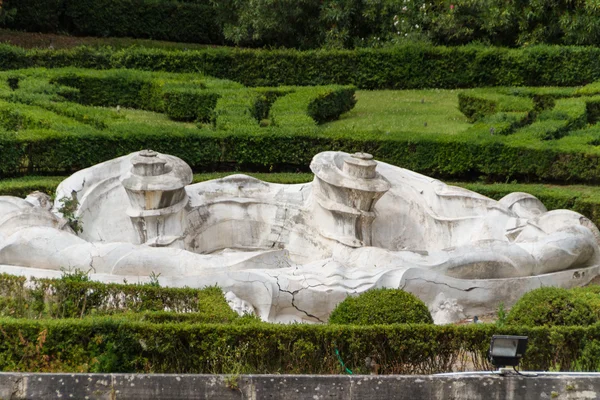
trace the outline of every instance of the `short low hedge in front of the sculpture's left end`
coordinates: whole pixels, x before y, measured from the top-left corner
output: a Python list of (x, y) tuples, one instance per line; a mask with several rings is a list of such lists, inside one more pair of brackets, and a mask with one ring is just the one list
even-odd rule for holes
[(146, 284), (103, 284), (90, 281), (79, 271), (66, 273), (60, 279), (29, 281), (0, 274), (0, 316), (83, 318), (148, 311), (194, 313), (194, 321), (205, 323), (238, 318), (218, 287), (163, 288), (157, 280)]

